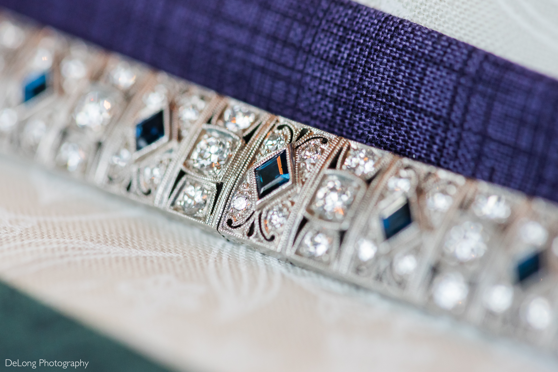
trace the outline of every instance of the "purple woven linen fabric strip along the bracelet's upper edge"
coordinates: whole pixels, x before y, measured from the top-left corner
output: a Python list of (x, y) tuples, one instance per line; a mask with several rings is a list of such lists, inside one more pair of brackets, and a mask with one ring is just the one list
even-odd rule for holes
[(0, 0), (262, 109), (558, 200), (558, 81), (345, 0)]

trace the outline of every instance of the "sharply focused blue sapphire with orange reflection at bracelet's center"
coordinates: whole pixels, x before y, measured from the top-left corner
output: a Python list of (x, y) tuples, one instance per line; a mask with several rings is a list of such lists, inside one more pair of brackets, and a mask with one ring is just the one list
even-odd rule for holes
[(256, 168), (258, 198), (261, 199), (273, 192), (282, 184), (287, 183), (290, 178), (287, 166), (287, 151), (285, 150)]

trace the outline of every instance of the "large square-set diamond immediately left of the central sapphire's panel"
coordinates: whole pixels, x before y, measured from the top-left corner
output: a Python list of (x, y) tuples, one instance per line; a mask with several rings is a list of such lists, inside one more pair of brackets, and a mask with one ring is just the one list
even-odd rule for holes
[(196, 144), (188, 164), (206, 177), (217, 178), (227, 167), (236, 148), (236, 140), (225, 133), (208, 130)]

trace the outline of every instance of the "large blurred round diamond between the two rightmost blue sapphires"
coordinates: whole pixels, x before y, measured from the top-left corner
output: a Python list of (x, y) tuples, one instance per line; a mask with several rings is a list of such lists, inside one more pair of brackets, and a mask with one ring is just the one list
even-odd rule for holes
[(446, 238), (444, 248), (461, 262), (482, 257), (487, 250), (482, 224), (465, 221), (454, 226)]

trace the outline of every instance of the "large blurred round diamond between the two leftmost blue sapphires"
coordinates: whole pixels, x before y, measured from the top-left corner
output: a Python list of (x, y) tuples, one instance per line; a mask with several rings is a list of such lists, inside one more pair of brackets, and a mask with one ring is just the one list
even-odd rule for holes
[(116, 99), (108, 91), (89, 92), (75, 107), (75, 124), (98, 133), (112, 118), (114, 106)]

